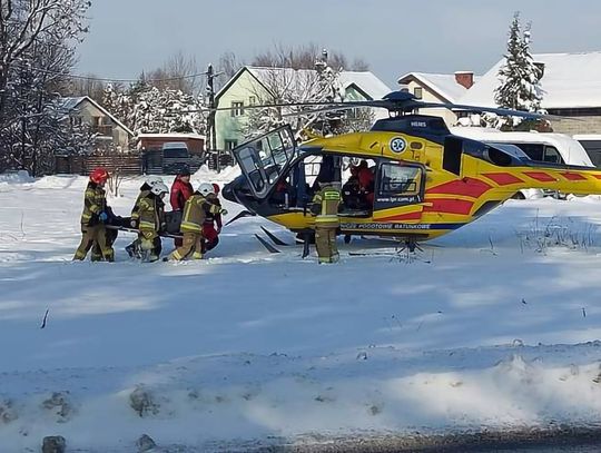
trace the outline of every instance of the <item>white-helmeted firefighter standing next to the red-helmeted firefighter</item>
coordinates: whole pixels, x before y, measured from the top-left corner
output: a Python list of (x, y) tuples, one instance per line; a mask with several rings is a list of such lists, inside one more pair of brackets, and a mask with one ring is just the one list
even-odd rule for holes
[(138, 209), (131, 214), (131, 221), (137, 221), (140, 233), (138, 242), (144, 262), (156, 262), (162, 249), (160, 232), (165, 229), (165, 203), (162, 199), (169, 188), (162, 183), (155, 183), (150, 190), (142, 193), (137, 204)]

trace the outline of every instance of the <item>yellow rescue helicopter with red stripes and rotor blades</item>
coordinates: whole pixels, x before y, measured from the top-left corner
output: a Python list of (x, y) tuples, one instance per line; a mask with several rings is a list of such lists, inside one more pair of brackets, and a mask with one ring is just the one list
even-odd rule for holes
[[(534, 161), (512, 145), (453, 136), (442, 118), (413, 111), (447, 107), (541, 118), (538, 114), (423, 102), (404, 91), (382, 100), (314, 102), (311, 107), (312, 111), (381, 107), (391, 115), (375, 121), (368, 131), (315, 137), (300, 145), (289, 126), (264, 134), (231, 151), (242, 175), (223, 191), (226, 199), (248, 210), (242, 215), (259, 215), (305, 239), (314, 225), (307, 206), (319, 181), (343, 187), (338, 214), (339, 234), (345, 239), (388, 236), (404, 242), (412, 252), (418, 242), (467, 225), (521, 189), (601, 194), (601, 170)], [(357, 163), (363, 164), (358, 167), (364, 173), (367, 166), (373, 176), (371, 187), (361, 187), (355, 195), (348, 184), (356, 175), (346, 175)]]

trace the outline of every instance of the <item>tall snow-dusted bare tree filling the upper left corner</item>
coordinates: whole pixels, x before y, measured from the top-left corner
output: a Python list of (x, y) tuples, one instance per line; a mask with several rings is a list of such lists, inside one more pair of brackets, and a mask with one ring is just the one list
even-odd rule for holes
[(73, 148), (78, 132), (63, 121), (57, 97), (87, 30), (88, 7), (82, 0), (0, 1), (1, 166), (46, 173), (55, 150)]

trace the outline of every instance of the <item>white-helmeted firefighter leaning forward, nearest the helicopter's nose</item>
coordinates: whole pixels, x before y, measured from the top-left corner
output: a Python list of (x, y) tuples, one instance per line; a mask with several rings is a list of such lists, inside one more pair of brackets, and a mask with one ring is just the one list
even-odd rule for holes
[(209, 199), (214, 195), (215, 188), (213, 185), (204, 183), (186, 200), (179, 227), (184, 234), (184, 244), (162, 260), (181, 260), (188, 256), (191, 256), (193, 259), (203, 258), (203, 224), (207, 214), (227, 214), (226, 209)]

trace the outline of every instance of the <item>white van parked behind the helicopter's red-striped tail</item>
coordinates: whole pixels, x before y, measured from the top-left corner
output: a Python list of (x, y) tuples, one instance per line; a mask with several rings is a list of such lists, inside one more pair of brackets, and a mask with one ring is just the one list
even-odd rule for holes
[[(487, 144), (515, 145), (536, 161), (594, 167), (584, 147), (564, 134), (502, 132), (480, 127), (452, 127), (451, 132)], [(540, 198), (544, 195), (542, 189), (525, 189), (520, 190), (516, 198)]]

